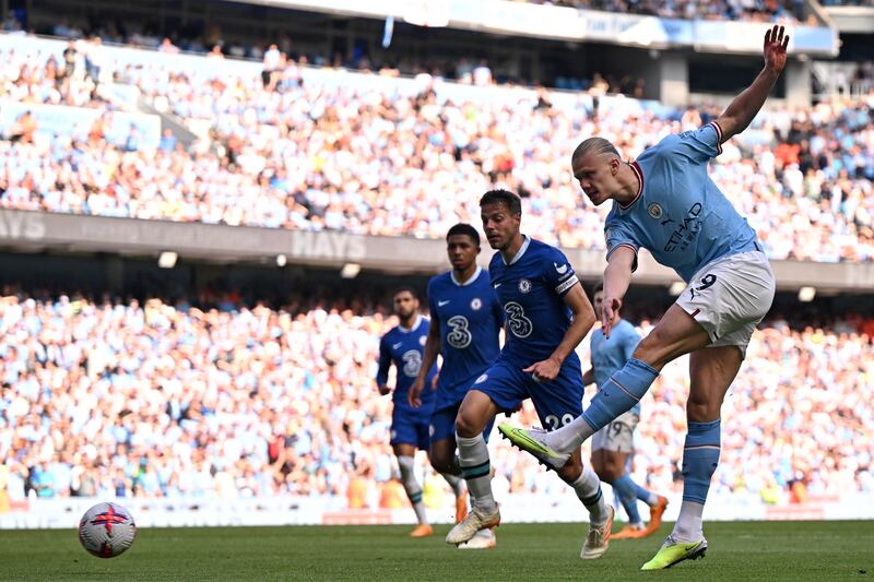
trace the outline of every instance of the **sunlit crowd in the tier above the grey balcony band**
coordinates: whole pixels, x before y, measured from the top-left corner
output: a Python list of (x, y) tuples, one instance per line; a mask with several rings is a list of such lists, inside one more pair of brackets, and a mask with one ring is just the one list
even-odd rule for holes
[[(8, 57), (0, 97), (81, 98), (52, 58)], [(12, 128), (0, 141), (0, 206), (439, 238), (459, 221), (476, 223), (480, 193), (500, 185), (524, 198), (530, 231), (603, 248), (607, 209), (588, 204), (567, 167), (579, 135), (611, 139), (630, 159), (716, 112), (659, 116), (622, 99), (558, 106), (547, 92), (452, 102), (428, 88), (430, 78), (404, 95), (392, 85), (327, 86), (305, 73), (292, 60), (269, 75), (104, 71), (172, 109), (198, 139), (185, 147), (167, 132), (151, 151), (135, 140), (107, 143), (102, 123), (39, 139), (32, 121), (24, 140)], [(85, 69), (72, 76), (91, 79)], [(874, 95), (772, 110), (711, 164), (772, 258), (874, 259), (872, 107)]]

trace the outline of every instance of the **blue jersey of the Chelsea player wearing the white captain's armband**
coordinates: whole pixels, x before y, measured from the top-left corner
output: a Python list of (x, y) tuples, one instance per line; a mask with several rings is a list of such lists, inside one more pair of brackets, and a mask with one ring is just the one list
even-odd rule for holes
[[(496, 252), (488, 273), (507, 314), (500, 359), (527, 368), (548, 358), (570, 326), (570, 308), (563, 297), (579, 283), (570, 262), (560, 250), (527, 236), (509, 264)], [(576, 352), (565, 364), (579, 367)]]

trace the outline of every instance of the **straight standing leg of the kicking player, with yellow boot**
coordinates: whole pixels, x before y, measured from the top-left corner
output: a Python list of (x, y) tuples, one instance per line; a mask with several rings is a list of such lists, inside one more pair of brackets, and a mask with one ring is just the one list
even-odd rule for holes
[(685, 559), (704, 556), (701, 516), (710, 478), (719, 464), (722, 400), (741, 369), (743, 352), (737, 346), (700, 349), (689, 358), (689, 397), (686, 418), (689, 430), (683, 447), (683, 504), (674, 530), (643, 570), (668, 568)]

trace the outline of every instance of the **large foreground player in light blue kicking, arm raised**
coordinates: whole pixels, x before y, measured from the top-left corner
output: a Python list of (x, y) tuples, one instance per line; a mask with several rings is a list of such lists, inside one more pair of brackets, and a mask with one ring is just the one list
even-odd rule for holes
[(707, 550), (701, 516), (719, 464), (720, 407), (775, 294), (756, 233), (710, 179), (707, 164), (765, 104), (786, 66), (788, 44), (782, 26), (765, 34), (763, 71), (713, 122), (664, 138), (633, 164), (622, 162), (602, 138), (584, 140), (571, 158), (574, 176), (592, 203), (613, 200), (605, 224), (604, 334), (610, 337), (640, 247), (688, 286), (579, 418), (550, 433), (512, 427), (501, 432), (560, 467), (582, 441), (639, 402), (669, 361), (689, 354), (683, 504), (673, 532), (643, 570), (701, 558)]

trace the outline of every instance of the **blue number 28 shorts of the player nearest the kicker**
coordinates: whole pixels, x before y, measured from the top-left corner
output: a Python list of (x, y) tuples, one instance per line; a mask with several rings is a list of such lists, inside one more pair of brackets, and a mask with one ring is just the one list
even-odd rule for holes
[(541, 425), (555, 430), (582, 414), (582, 370), (579, 360), (565, 361), (552, 382), (538, 382), (521, 367), (498, 360), (471, 387), (492, 399), (498, 408), (513, 412), (531, 399)]

